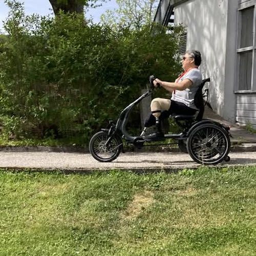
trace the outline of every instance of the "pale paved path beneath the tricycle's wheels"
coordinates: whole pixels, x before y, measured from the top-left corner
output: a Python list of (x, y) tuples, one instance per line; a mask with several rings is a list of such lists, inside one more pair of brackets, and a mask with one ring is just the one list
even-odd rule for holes
[[(230, 161), (215, 166), (256, 165), (256, 152), (230, 153)], [(184, 153), (125, 153), (110, 163), (96, 161), (90, 154), (47, 152), (0, 152), (0, 167), (61, 169), (85, 171), (93, 169), (181, 169), (196, 168), (197, 164)]]

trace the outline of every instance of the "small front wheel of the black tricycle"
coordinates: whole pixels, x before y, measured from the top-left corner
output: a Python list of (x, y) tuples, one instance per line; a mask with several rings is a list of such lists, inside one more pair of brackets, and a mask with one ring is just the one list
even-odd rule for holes
[(109, 135), (106, 131), (101, 131), (93, 135), (89, 143), (91, 155), (99, 162), (111, 162), (115, 160), (122, 149), (122, 140), (119, 136), (113, 135), (106, 145)]

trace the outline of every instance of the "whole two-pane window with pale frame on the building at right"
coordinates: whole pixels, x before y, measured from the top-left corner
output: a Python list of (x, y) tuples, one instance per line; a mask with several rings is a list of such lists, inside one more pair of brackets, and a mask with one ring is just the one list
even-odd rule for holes
[(239, 10), (239, 31), (238, 31), (238, 92), (252, 92), (253, 79), (256, 76), (256, 46), (255, 46), (255, 14), (256, 0), (250, 0), (241, 4)]

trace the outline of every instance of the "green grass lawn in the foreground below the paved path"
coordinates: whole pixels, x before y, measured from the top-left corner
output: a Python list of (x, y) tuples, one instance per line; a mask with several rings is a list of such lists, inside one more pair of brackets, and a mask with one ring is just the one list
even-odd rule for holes
[(255, 255), (256, 166), (0, 171), (0, 255)]

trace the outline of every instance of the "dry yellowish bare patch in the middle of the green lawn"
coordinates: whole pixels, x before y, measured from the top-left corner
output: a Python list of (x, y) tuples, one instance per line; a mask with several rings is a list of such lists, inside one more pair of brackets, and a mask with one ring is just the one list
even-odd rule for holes
[(144, 191), (143, 193), (135, 195), (133, 201), (123, 212), (123, 219), (135, 219), (143, 210), (155, 202), (153, 196), (154, 194), (151, 191)]

